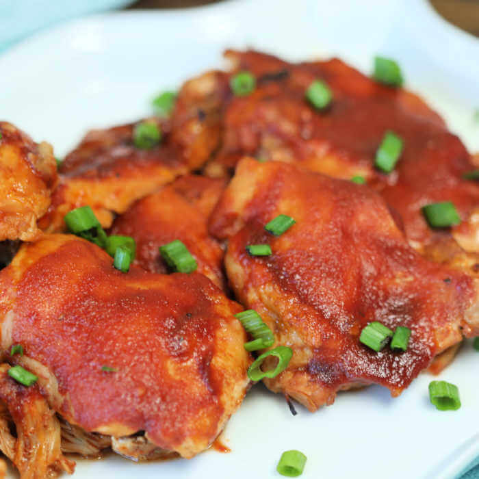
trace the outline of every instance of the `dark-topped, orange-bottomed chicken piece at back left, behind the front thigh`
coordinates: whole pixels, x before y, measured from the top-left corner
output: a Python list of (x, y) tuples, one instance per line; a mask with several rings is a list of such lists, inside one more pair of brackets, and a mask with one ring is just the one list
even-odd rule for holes
[(161, 143), (151, 149), (133, 144), (134, 124), (87, 133), (60, 166), (59, 185), (42, 218), (44, 229), (63, 231), (65, 214), (83, 205), (90, 205), (107, 228), (114, 213), (124, 213), (135, 200), (196, 168), (169, 141), (168, 122), (148, 121), (164, 131)]

